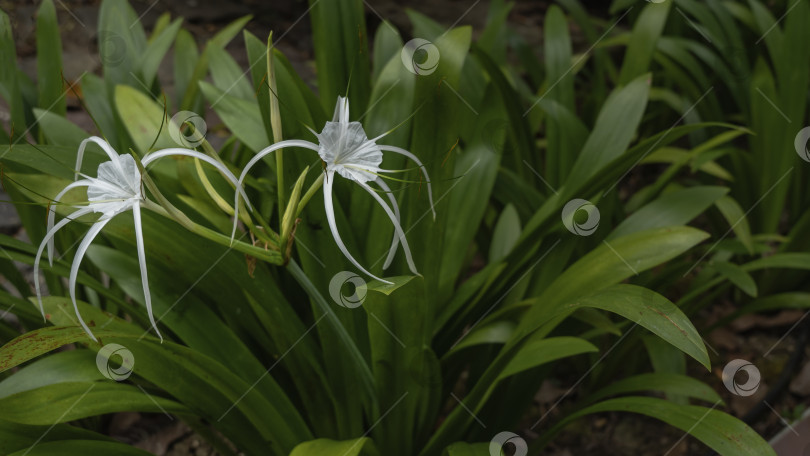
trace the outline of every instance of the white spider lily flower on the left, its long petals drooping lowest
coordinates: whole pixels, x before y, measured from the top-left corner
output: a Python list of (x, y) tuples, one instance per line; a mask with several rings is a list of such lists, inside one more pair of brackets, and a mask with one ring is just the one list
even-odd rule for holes
[[(98, 144), (101, 149), (104, 150), (104, 152), (110, 157), (110, 161), (101, 163), (98, 166), (96, 177), (89, 177), (81, 174), (84, 150), (91, 142)], [(200, 152), (185, 149), (162, 150), (147, 154), (143, 160), (141, 160), (141, 164), (145, 167), (149, 163), (159, 158), (170, 155), (186, 155), (210, 163), (220, 172), (222, 172), (232, 183), (235, 185), (237, 184), (236, 176), (234, 176), (233, 173), (231, 173), (224, 165)], [(84, 178), (78, 180), (80, 175)], [(154, 328), (158, 337), (160, 337), (160, 340), (162, 341), (163, 336), (160, 334), (160, 331), (157, 328), (155, 317), (152, 312), (152, 296), (149, 292), (149, 280), (146, 273), (146, 252), (143, 245), (143, 225), (141, 222), (141, 205), (146, 202), (146, 196), (144, 195), (141, 185), (141, 172), (138, 169), (138, 165), (135, 163), (135, 159), (128, 154), (118, 155), (118, 153), (116, 153), (106, 141), (93, 136), (85, 139), (79, 145), (79, 152), (76, 158), (76, 174), (74, 179), (77, 180), (68, 184), (64, 189), (62, 189), (62, 191), (56, 195), (54, 201), (58, 202), (68, 191), (74, 188), (87, 187), (88, 204), (83, 206), (75, 206), (78, 209), (77, 211), (68, 215), (55, 225), (54, 219), (56, 212), (53, 205), (48, 208), (48, 232), (40, 243), (36, 258), (34, 259), (34, 287), (37, 293), (37, 301), (39, 302), (40, 312), (42, 312), (44, 317), (45, 309), (42, 304), (42, 293), (40, 291), (39, 284), (39, 260), (42, 257), (43, 250), (47, 246), (48, 261), (51, 266), (53, 266), (53, 238), (54, 235), (56, 235), (56, 232), (79, 217), (94, 212), (101, 214), (98, 220), (96, 220), (90, 226), (90, 229), (84, 236), (84, 239), (82, 239), (82, 242), (79, 244), (79, 247), (76, 250), (76, 255), (73, 258), (73, 264), (70, 268), (69, 278), (70, 299), (73, 302), (73, 309), (76, 312), (76, 317), (79, 319), (79, 324), (81, 324), (82, 328), (84, 328), (85, 332), (87, 332), (91, 339), (97, 341), (95, 336), (93, 336), (93, 333), (90, 331), (90, 328), (88, 328), (84, 320), (82, 320), (82, 317), (79, 314), (79, 307), (76, 304), (76, 279), (79, 274), (79, 266), (81, 265), (82, 259), (84, 258), (85, 253), (87, 253), (87, 249), (90, 247), (90, 244), (93, 242), (96, 236), (98, 236), (104, 226), (107, 225), (107, 223), (109, 223), (109, 221), (112, 220), (112, 218), (116, 215), (131, 209), (135, 224), (135, 243), (138, 251), (138, 263), (141, 268), (141, 282), (143, 285), (146, 311), (149, 315), (149, 321), (152, 323), (152, 328)], [(245, 195), (242, 188), (238, 185), (236, 188), (239, 190), (237, 193), (242, 194), (242, 197), (245, 198), (248, 207), (250, 207), (250, 202), (247, 200), (247, 195)]]

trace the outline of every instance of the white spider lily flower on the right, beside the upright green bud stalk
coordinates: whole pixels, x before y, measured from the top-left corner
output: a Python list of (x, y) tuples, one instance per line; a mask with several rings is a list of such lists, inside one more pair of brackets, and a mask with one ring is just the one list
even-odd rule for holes
[[(433, 218), (435, 219), (436, 211), (433, 208), (433, 192), (430, 186), (430, 177), (428, 176), (427, 169), (422, 162), (419, 161), (416, 155), (408, 152), (405, 149), (385, 144), (377, 144), (377, 141), (387, 133), (382, 134), (374, 139), (368, 139), (360, 122), (349, 121), (349, 101), (344, 97), (338, 97), (338, 102), (337, 106), (335, 107), (335, 114), (332, 117), (332, 121), (326, 122), (326, 125), (320, 134), (314, 131), (312, 133), (318, 138), (318, 144), (303, 140), (287, 140), (280, 141), (261, 150), (250, 160), (250, 162), (248, 162), (247, 166), (245, 166), (245, 169), (242, 171), (242, 175), (239, 177), (239, 184), (241, 185), (242, 180), (245, 178), (253, 165), (255, 165), (266, 155), (278, 149), (302, 147), (313, 150), (318, 153), (321, 160), (323, 160), (323, 162), (326, 164), (326, 180), (323, 184), (326, 220), (329, 223), (329, 228), (332, 231), (332, 236), (335, 239), (335, 243), (343, 255), (366, 275), (384, 283), (391, 283), (375, 276), (366, 270), (366, 268), (361, 266), (360, 263), (349, 253), (346, 245), (341, 240), (340, 233), (337, 229), (337, 224), (335, 223), (335, 209), (332, 203), (332, 186), (335, 182), (333, 179), (335, 173), (346, 179), (354, 181), (357, 183), (357, 185), (362, 187), (363, 190), (371, 194), (371, 196), (380, 204), (380, 206), (382, 206), (385, 213), (391, 219), (391, 223), (394, 225), (394, 239), (391, 242), (391, 248), (389, 249), (388, 257), (383, 264), (383, 269), (387, 269), (388, 266), (391, 265), (394, 255), (396, 254), (397, 247), (401, 242), (402, 248), (405, 251), (405, 259), (408, 263), (408, 267), (414, 274), (419, 274), (416, 271), (416, 266), (413, 264), (411, 250), (408, 247), (408, 240), (405, 239), (405, 232), (402, 230), (402, 226), (400, 225), (399, 206), (397, 205), (396, 198), (394, 198), (394, 196), (391, 194), (391, 189), (380, 177), (381, 173), (391, 173), (396, 171), (382, 169), (380, 168), (380, 165), (383, 161), (383, 151), (404, 155), (413, 160), (417, 166), (422, 169), (422, 173), (427, 181), (430, 209), (433, 212)], [(377, 191), (371, 188), (369, 185), (371, 182), (376, 184), (382, 190), (382, 192), (388, 194), (388, 199), (391, 202), (390, 207), (385, 203), (385, 201), (383, 201)], [(238, 206), (239, 195), (237, 194), (236, 204), (234, 204), (234, 207), (238, 208)], [(237, 217), (234, 217), (231, 240), (233, 240), (236, 234), (236, 221)]]

